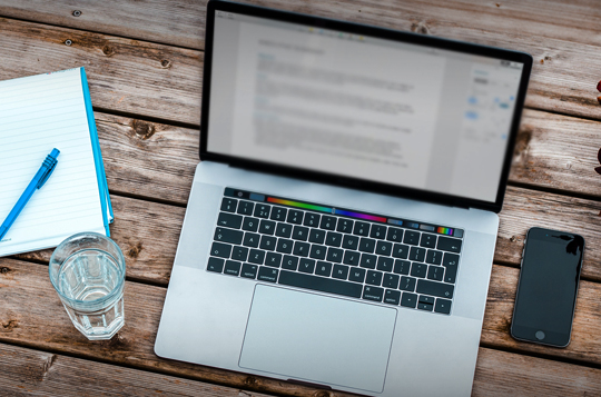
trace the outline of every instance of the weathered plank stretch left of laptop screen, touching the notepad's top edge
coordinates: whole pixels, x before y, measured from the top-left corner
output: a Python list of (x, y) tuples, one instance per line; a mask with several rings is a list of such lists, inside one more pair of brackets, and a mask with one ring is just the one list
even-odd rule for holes
[(200, 121), (200, 51), (6, 18), (0, 30), (0, 80), (85, 67), (96, 108)]

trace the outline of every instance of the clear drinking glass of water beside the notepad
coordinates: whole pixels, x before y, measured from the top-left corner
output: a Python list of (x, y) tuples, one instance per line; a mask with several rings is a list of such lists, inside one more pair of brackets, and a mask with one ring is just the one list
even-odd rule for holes
[(110, 238), (81, 232), (50, 258), (50, 281), (76, 328), (90, 340), (110, 339), (124, 326), (125, 258)]

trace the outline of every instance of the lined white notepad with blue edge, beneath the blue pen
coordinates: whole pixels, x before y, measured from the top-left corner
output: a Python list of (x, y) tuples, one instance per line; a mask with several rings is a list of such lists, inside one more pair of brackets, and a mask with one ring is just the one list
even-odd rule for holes
[(112, 208), (83, 68), (0, 81), (0, 222), (46, 156), (60, 150), (0, 241), (0, 256), (58, 246), (81, 231), (109, 236)]

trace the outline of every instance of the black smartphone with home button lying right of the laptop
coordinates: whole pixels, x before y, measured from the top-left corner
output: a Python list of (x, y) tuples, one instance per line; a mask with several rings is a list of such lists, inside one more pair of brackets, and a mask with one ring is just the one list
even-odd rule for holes
[(572, 334), (584, 239), (542, 228), (528, 231), (511, 336), (565, 347)]

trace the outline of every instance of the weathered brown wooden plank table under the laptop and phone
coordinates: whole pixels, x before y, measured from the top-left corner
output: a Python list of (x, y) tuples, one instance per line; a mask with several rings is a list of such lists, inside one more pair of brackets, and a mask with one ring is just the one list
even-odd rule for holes
[[(593, 170), (601, 146), (601, 4), (255, 2), (534, 57), (473, 394), (601, 395), (601, 176)], [(0, 259), (0, 395), (343, 395), (154, 354), (198, 161), (204, 26), (205, 1), (0, 0), (0, 79), (86, 67), (116, 217), (111, 234), (127, 259), (126, 326), (110, 341), (88, 341), (71, 326), (48, 278), (51, 250)], [(587, 240), (565, 349), (509, 334), (532, 226)]]

